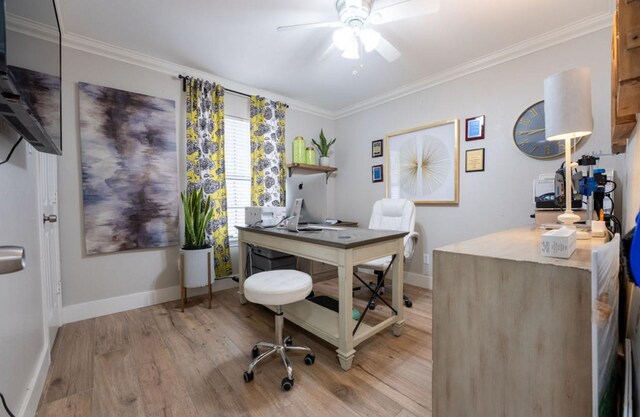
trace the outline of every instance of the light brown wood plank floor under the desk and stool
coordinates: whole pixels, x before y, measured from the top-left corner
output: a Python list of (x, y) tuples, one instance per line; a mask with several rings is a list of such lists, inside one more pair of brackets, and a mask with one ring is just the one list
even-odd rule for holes
[[(335, 295), (336, 280), (314, 286)], [(63, 326), (52, 352), (38, 417), (431, 416), (431, 291), (407, 286), (401, 337), (385, 330), (356, 347), (344, 372), (335, 348), (285, 322), (294, 344), (316, 361), (290, 355), (295, 385), (280, 390), (279, 359), (262, 363), (253, 382), (242, 374), (250, 350), (273, 339), (273, 313), (240, 305), (235, 289), (216, 292), (213, 306), (191, 300), (184, 313), (169, 302)], [(364, 294), (354, 305), (364, 306)], [(387, 311), (378, 307), (371, 315)]]

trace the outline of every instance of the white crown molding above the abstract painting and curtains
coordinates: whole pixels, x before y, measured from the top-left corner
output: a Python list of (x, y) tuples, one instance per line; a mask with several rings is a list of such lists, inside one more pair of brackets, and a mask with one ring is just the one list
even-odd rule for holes
[(188, 74), (190, 76), (201, 77), (205, 79), (215, 80), (227, 88), (240, 90), (248, 94), (261, 95), (269, 97), (273, 100), (286, 102), (291, 109), (309, 113), (315, 116), (333, 119), (333, 114), (325, 109), (310, 105), (308, 103), (294, 100), (289, 97), (275, 94), (268, 90), (257, 89), (245, 84), (229, 80), (214, 73), (201, 71), (185, 65), (176, 64), (175, 62), (145, 55), (131, 49), (121, 48), (106, 42), (97, 41), (82, 35), (71, 32), (65, 32), (62, 35), (62, 45), (66, 48), (87, 52), (94, 55), (103, 56), (105, 58), (114, 59), (116, 61), (147, 68), (156, 72), (174, 76), (178, 80), (178, 74)]

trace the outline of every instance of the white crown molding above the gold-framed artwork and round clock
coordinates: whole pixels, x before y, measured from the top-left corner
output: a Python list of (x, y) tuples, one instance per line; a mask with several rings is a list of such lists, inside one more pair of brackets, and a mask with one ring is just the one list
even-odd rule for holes
[(525, 55), (567, 42), (571, 39), (588, 35), (601, 29), (611, 27), (613, 14), (603, 12), (587, 19), (577, 21), (571, 25), (544, 33), (539, 36), (516, 43), (507, 48), (498, 50), (478, 59), (468, 61), (457, 67), (450, 68), (438, 74), (423, 78), (411, 84), (406, 84), (388, 93), (380, 94), (367, 100), (363, 100), (351, 106), (344, 107), (333, 114), (333, 119), (341, 119), (364, 110), (377, 107), (381, 104), (415, 94), (419, 91), (444, 84), (448, 81), (482, 71), (505, 62), (521, 58)]

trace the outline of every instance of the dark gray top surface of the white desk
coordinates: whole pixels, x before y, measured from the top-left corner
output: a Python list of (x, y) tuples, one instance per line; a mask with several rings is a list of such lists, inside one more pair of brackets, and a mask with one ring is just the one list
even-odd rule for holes
[(344, 230), (324, 229), (317, 232), (290, 232), (286, 229), (266, 228), (260, 229), (248, 226), (236, 226), (238, 230), (276, 235), (285, 239), (299, 240), (318, 245), (333, 246), (335, 248), (350, 249), (358, 246), (404, 237), (408, 232), (393, 230), (371, 230), (349, 227)]

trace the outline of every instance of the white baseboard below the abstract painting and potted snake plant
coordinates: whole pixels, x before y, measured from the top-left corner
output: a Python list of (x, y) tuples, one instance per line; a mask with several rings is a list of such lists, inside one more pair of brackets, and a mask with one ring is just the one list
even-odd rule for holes
[[(222, 291), (233, 288), (238, 284), (231, 279), (216, 280), (213, 284), (213, 291)], [(189, 296), (200, 295), (206, 292), (206, 287), (193, 288), (189, 290)], [(92, 319), (105, 316), (107, 314), (120, 313), (122, 311), (133, 310), (141, 307), (148, 307), (154, 304), (166, 303), (180, 298), (180, 287), (178, 285), (158, 290), (139, 292), (122, 295), (119, 297), (105, 298), (102, 300), (89, 301), (86, 303), (72, 304), (62, 307), (62, 323), (73, 323), (75, 321)]]

